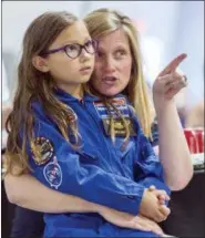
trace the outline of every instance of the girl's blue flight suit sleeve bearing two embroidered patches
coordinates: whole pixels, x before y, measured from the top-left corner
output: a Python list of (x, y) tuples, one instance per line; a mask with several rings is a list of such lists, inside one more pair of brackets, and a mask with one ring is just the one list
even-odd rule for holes
[(81, 163), (82, 154), (71, 148), (60, 132), (40, 116), (35, 120), (35, 137), (45, 137), (53, 144), (54, 158), (37, 164), (28, 144), (32, 175), (48, 187), (79, 196), (121, 211), (136, 215), (144, 186), (107, 173), (93, 164)]

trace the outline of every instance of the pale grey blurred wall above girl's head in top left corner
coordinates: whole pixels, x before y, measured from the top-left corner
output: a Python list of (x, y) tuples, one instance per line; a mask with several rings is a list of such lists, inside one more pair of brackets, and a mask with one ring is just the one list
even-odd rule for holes
[(31, 21), (44, 11), (66, 10), (79, 15), (83, 1), (3, 1), (2, 46), (19, 51), (22, 35)]

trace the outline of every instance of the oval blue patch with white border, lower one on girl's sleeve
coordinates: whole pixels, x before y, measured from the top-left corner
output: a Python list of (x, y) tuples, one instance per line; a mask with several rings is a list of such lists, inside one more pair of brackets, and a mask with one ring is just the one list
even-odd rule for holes
[[(57, 161), (55, 157), (54, 159)], [(62, 170), (58, 162), (49, 163), (43, 169), (43, 175), (50, 186), (54, 187), (55, 189), (58, 189), (62, 184)]]

